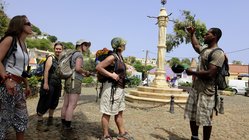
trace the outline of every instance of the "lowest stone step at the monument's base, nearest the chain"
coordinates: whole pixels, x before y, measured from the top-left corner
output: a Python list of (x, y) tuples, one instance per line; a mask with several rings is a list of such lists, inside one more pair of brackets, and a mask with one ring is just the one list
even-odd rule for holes
[[(175, 99), (174, 102), (178, 103), (178, 104), (185, 104), (186, 103), (186, 98), (185, 99)], [(148, 98), (148, 97), (141, 97), (141, 96), (134, 96), (131, 94), (126, 94), (125, 95), (125, 100), (128, 102), (136, 102), (136, 103), (154, 103), (154, 104), (158, 104), (158, 103), (170, 103), (171, 98), (166, 98), (166, 99), (157, 99), (157, 98)]]

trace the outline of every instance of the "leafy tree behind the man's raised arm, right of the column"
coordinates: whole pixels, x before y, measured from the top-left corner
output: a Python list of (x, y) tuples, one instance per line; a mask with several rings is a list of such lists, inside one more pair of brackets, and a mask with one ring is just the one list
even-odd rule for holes
[(167, 34), (166, 46), (167, 52), (173, 50), (173, 48), (178, 47), (182, 43), (190, 43), (189, 35), (186, 31), (186, 27), (194, 26), (196, 28), (196, 37), (203, 44), (203, 36), (207, 32), (206, 25), (200, 20), (195, 20), (195, 15), (192, 16), (190, 11), (183, 10), (182, 12), (183, 20), (172, 20), (174, 22), (174, 33)]

